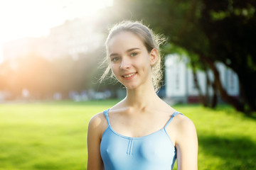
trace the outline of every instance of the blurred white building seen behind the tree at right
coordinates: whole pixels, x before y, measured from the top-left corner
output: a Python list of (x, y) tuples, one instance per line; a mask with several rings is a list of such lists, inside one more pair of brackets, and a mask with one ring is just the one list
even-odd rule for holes
[[(193, 72), (187, 67), (188, 57), (180, 57), (177, 54), (167, 55), (165, 57), (165, 86), (166, 98), (171, 98), (178, 102), (193, 103), (198, 101), (198, 89), (193, 81)], [(225, 67), (224, 64), (217, 64), (220, 72), (220, 79), (223, 87), (230, 96), (239, 96), (238, 75)], [(197, 72), (198, 84), (201, 86), (203, 94), (206, 94), (206, 73)], [(210, 81), (213, 81), (213, 73), (209, 72)], [(213, 89), (209, 90), (210, 96), (213, 95)]]

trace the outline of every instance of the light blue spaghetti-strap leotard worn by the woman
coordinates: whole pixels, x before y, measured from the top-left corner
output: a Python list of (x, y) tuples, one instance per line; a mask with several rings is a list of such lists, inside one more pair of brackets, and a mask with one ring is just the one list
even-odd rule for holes
[(144, 137), (127, 137), (115, 132), (104, 111), (108, 127), (102, 135), (100, 154), (105, 170), (170, 170), (176, 161), (176, 149), (166, 132), (175, 112), (164, 128)]

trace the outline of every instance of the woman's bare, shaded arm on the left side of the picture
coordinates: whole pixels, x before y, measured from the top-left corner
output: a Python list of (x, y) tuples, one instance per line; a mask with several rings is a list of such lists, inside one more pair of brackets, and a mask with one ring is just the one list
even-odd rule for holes
[[(104, 116), (104, 115), (103, 115)], [(87, 170), (104, 169), (100, 156), (100, 141), (102, 137), (102, 114), (95, 115), (88, 125), (87, 132)]]

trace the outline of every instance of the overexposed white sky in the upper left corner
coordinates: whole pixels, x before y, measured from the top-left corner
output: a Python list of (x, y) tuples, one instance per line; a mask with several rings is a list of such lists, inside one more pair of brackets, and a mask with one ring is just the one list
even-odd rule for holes
[(0, 0), (0, 63), (3, 42), (47, 35), (65, 20), (92, 16), (112, 0)]

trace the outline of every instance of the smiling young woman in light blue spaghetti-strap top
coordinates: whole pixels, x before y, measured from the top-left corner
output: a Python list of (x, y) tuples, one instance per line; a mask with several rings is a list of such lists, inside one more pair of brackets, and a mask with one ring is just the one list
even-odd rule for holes
[(87, 170), (197, 169), (196, 128), (156, 95), (161, 79), (159, 38), (139, 22), (123, 21), (107, 37), (105, 75), (127, 96), (95, 115), (87, 133)]

